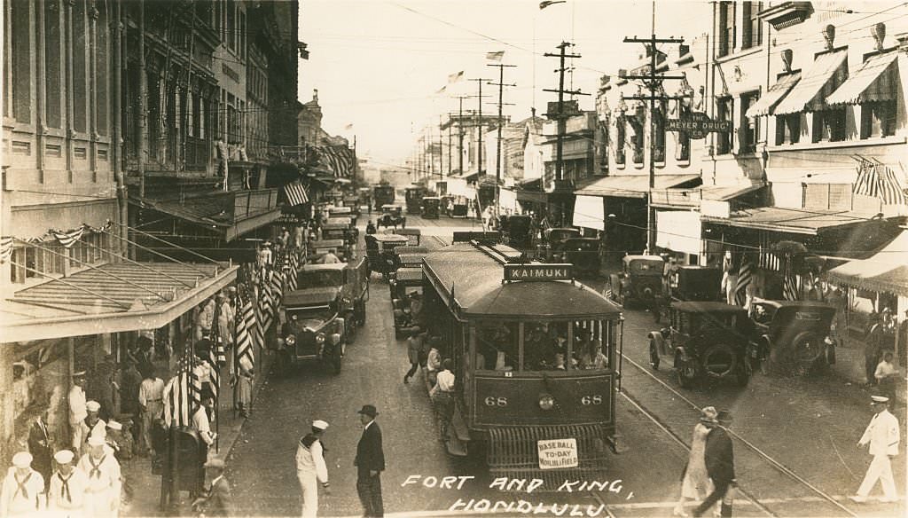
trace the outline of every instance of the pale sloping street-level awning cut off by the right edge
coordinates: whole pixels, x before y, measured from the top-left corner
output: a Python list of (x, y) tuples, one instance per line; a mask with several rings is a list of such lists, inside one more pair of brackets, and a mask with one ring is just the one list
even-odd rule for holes
[(825, 279), (872, 292), (908, 296), (906, 255), (908, 231), (903, 231), (873, 257), (836, 266), (825, 273)]

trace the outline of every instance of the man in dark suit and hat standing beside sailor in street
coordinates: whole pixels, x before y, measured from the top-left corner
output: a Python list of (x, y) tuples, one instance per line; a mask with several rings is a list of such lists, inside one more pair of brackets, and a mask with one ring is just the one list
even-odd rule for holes
[(356, 445), (356, 492), (360, 495), (363, 516), (384, 516), (381, 503), (381, 472), (385, 469), (385, 453), (381, 449), (381, 429), (375, 422), (379, 413), (375, 406), (364, 404), (359, 412), (362, 437)]

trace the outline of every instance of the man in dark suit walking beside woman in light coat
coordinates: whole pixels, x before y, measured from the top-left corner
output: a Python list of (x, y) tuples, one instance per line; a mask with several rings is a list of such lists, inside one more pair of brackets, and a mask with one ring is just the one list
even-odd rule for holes
[(718, 424), (710, 425), (712, 430), (706, 435), (706, 473), (713, 480), (714, 490), (706, 496), (694, 510), (694, 516), (703, 513), (716, 502), (722, 501), (722, 516), (732, 515), (731, 487), (735, 484), (735, 452), (732, 438), (726, 427), (731, 424), (732, 415), (727, 410), (719, 411), (716, 416)]

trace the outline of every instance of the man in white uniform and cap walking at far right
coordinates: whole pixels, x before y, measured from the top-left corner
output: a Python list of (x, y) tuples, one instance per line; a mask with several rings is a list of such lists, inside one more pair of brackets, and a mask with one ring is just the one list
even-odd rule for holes
[(870, 454), (873, 461), (867, 468), (867, 474), (864, 475), (864, 482), (857, 490), (857, 496), (853, 496), (854, 502), (866, 502), (867, 495), (879, 480), (883, 484), (883, 502), (895, 502), (898, 495), (895, 493), (895, 482), (893, 481), (893, 465), (890, 458), (899, 453), (899, 420), (892, 413), (889, 413), (889, 398), (882, 395), (871, 396), (871, 405), (876, 415), (870, 420), (867, 430), (861, 440), (858, 441), (858, 447), (870, 444)]

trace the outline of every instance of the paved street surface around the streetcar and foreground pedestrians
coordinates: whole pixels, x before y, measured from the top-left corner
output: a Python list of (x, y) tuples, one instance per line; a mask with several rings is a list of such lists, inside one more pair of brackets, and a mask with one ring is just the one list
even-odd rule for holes
[[(423, 243), (429, 248), (448, 243), (452, 230), (470, 227), (469, 222), (446, 218), (420, 221), (410, 216), (408, 221), (408, 226), (428, 236)], [(587, 284), (601, 288), (602, 282), (591, 279)], [(229, 461), (241, 513), (299, 513), (296, 443), (313, 419), (324, 419), (331, 423), (324, 442), (332, 493), (321, 497), (320, 515), (359, 514), (352, 461), (360, 436), (356, 411), (363, 403), (374, 403), (380, 412), (378, 423), (388, 459), (388, 471), (382, 477), (388, 513), (444, 511), (458, 499), (464, 503), (523, 499), (594, 508), (607, 503), (608, 512), (617, 516), (669, 514), (686, 462), (682, 443), (689, 443), (698, 415), (695, 406), (707, 404), (728, 408), (735, 415), (733, 430), (741, 439), (735, 441), (736, 469), (745, 493), (739, 493), (735, 503), (737, 515), (903, 512), (903, 503), (858, 506), (845, 498), (854, 494), (870, 460), (865, 450), (855, 447), (871, 417), (862, 391), (836, 379), (777, 379), (760, 374), (745, 389), (729, 385), (680, 390), (665, 362), (656, 373), (646, 363), (646, 333), (656, 324), (650, 314), (636, 310), (626, 312), (623, 389), (627, 395), (618, 398), (617, 407), (624, 448), (613, 457), (607, 472), (612, 481), (621, 481), (620, 492), (594, 498), (581, 493), (515, 494), (489, 489), (480, 466), (443, 452), (422, 385), (401, 383), (408, 366), (406, 344), (393, 338), (388, 287), (378, 275), (371, 279), (368, 313), (367, 324), (348, 348), (341, 374), (311, 364), (290, 374), (272, 374), (264, 386), (254, 418), (246, 423)], [(903, 465), (894, 464), (896, 481), (903, 483)], [(403, 485), (410, 475), (476, 479), (455, 491)]]

